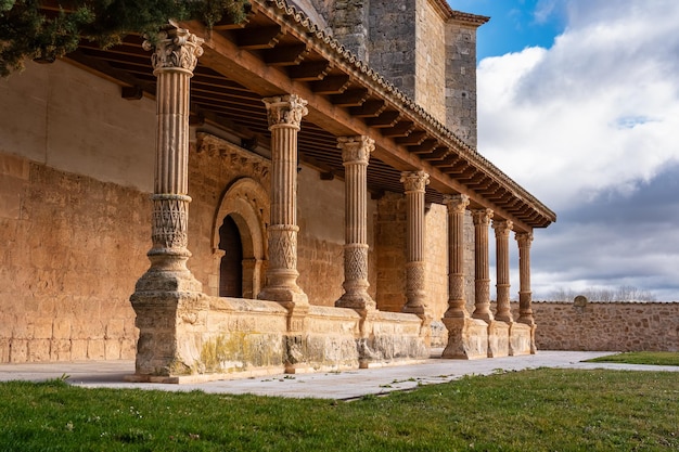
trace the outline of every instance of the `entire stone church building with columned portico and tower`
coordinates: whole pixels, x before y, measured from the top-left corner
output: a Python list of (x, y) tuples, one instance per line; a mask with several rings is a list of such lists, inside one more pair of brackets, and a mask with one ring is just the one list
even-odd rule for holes
[(487, 21), (251, 0), (0, 80), (0, 362), (177, 383), (535, 352), (555, 215), (476, 148)]

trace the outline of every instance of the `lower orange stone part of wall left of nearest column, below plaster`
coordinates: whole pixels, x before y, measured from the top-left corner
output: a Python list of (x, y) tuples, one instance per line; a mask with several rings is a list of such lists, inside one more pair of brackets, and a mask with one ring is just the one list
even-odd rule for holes
[(0, 185), (0, 362), (132, 359), (148, 195), (8, 154)]

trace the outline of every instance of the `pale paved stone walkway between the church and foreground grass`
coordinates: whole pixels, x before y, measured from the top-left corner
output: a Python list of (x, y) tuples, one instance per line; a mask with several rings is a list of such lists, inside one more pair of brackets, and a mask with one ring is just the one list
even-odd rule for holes
[(68, 375), (68, 382), (82, 387), (140, 388), (168, 391), (203, 390), (215, 393), (254, 393), (259, 396), (355, 399), (394, 390), (408, 390), (418, 385), (445, 383), (463, 375), (488, 375), (496, 372), (537, 367), (614, 369), (635, 371), (679, 372), (679, 366), (586, 363), (611, 352), (539, 351), (527, 357), (494, 358), (460, 361), (431, 359), (421, 364), (397, 365), (359, 371), (296, 375), (270, 375), (245, 379), (166, 385), (128, 383), (126, 375), (134, 370), (133, 361), (88, 361), (72, 363), (0, 364), (0, 382), (12, 379), (44, 380)]

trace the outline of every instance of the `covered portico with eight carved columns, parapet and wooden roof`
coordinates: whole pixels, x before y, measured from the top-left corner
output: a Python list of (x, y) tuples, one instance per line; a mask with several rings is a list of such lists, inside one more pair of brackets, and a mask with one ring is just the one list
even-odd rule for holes
[[(444, 358), (535, 352), (530, 243), (534, 228), (549, 225), (554, 214), (284, 2), (253, 1), (240, 24), (217, 24), (212, 30), (198, 23), (178, 24), (157, 40), (132, 36), (110, 51), (82, 46), (71, 57), (117, 80), (124, 95), (153, 95), (157, 104), (151, 268), (131, 297), (140, 330), (134, 379), (214, 379), (427, 358), (433, 318), (424, 285), (423, 219), (431, 203), (448, 209)], [(270, 186), (264, 204), (270, 210), (262, 255), (268, 259), (260, 262), (266, 276), (252, 299), (206, 295), (187, 266), (187, 162), (195, 124), (228, 131), (231, 142), (267, 157), (262, 165)], [(221, 145), (219, 139), (209, 140)], [(335, 307), (316, 306), (297, 284), (300, 163), (345, 183), (344, 283)], [(407, 302), (401, 312), (380, 310), (368, 293), (366, 204), (386, 192), (406, 197)], [(475, 237), (471, 313), (462, 264), (467, 210)], [(489, 309), (491, 220), (495, 313)], [(516, 320), (509, 311), (511, 231), (520, 251)]]

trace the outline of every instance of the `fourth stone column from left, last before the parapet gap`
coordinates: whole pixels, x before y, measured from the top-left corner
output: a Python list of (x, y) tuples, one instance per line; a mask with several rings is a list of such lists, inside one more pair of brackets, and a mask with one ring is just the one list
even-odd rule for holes
[(424, 292), (424, 193), (430, 175), (424, 171), (403, 171), (401, 182), (406, 189), (408, 209), (406, 306), (403, 312), (428, 318)]

